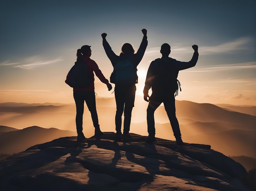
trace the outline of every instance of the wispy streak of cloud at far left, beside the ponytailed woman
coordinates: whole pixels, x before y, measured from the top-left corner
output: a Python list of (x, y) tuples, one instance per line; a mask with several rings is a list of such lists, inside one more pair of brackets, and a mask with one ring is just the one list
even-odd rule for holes
[(32, 69), (32, 68), (36, 68), (38, 66), (42, 66), (42, 65), (47, 65), (47, 64), (54, 64), (56, 62), (62, 61), (63, 59), (61, 58), (56, 58), (56, 59), (51, 59), (51, 60), (46, 60), (43, 59), (41, 57), (38, 56), (34, 56), (34, 57), (29, 57), (24, 59), (21, 62), (9, 62), (9, 60), (4, 61), (3, 63), (0, 64), (0, 66), (11, 66), (13, 68), (23, 68), (23, 69)]

